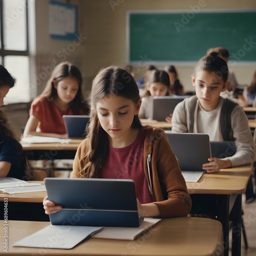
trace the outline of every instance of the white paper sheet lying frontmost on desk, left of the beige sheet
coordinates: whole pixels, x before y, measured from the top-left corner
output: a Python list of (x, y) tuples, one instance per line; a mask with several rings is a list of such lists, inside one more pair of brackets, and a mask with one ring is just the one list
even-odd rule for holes
[(17, 241), (13, 246), (71, 249), (90, 234), (103, 227), (49, 225), (30, 236)]

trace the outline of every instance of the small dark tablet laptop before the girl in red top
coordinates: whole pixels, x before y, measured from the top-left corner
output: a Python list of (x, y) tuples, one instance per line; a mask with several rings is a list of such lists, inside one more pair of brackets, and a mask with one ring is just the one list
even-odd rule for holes
[(90, 120), (89, 116), (63, 115), (62, 118), (69, 138), (86, 137), (86, 126)]

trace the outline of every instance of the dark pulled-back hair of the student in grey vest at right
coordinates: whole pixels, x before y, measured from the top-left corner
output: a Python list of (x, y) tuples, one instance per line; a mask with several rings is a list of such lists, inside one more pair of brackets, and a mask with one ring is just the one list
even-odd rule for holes
[(218, 77), (221, 77), (224, 83), (228, 77), (227, 62), (218, 56), (217, 52), (212, 52), (210, 55), (205, 55), (197, 62), (194, 69), (194, 76), (198, 70), (205, 70), (215, 73)]

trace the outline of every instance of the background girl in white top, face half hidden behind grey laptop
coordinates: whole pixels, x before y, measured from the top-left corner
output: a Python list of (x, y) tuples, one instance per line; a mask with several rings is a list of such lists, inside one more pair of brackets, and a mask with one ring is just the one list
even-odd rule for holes
[(153, 70), (147, 79), (145, 92), (139, 112), (140, 118), (151, 118), (153, 114), (153, 97), (169, 95), (170, 80), (165, 71)]

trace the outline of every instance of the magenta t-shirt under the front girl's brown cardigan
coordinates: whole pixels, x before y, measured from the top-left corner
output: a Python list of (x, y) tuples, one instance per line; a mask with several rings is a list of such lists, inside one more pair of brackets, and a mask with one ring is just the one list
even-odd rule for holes
[(129, 146), (115, 148), (109, 145), (109, 155), (101, 171), (101, 178), (132, 179), (140, 203), (152, 203), (143, 167), (143, 150), (146, 130)]

